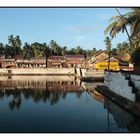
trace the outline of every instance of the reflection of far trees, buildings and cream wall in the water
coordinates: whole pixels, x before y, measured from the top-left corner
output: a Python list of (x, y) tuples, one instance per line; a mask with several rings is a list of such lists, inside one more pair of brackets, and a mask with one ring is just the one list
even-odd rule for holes
[[(74, 77), (30, 77), (14, 76), (12, 79), (0, 81), (0, 98), (11, 97), (9, 108), (20, 109), (23, 98), (34, 102), (47, 102), (56, 104), (60, 98), (66, 98), (73, 92), (79, 98), (84, 89), (78, 85)], [(42, 79), (43, 78), (43, 79)], [(49, 79), (51, 78), (51, 79)], [(61, 80), (63, 79), (63, 81)]]

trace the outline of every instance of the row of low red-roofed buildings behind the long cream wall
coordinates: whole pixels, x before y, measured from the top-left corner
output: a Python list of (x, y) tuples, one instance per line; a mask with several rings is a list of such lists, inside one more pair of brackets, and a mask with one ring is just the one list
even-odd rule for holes
[(0, 68), (45, 68), (47, 67), (85, 67), (84, 55), (65, 55), (65, 56), (50, 56), (46, 61), (43, 58), (23, 58), (17, 56), (14, 59), (5, 59), (0, 57)]

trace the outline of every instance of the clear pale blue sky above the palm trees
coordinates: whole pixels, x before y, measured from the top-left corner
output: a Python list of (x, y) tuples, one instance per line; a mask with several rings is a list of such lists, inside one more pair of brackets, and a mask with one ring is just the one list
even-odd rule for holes
[[(6, 44), (9, 35), (19, 35), (22, 44), (55, 40), (68, 49), (105, 49), (104, 30), (114, 15), (115, 8), (0, 8), (0, 42)], [(117, 34), (112, 48), (126, 40), (126, 34)]]

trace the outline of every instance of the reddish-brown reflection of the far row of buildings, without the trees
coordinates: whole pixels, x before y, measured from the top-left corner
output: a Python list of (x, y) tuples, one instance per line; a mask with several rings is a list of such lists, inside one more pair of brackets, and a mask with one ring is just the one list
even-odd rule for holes
[[(78, 86), (77, 83), (75, 81), (73, 81), (74, 78), (66, 78), (65, 80), (65, 77), (63, 77), (64, 80), (61, 79), (61, 77), (59, 76), (56, 76), (56, 79), (59, 78), (59, 81), (58, 80), (55, 80), (55, 81), (49, 81), (48, 78), (50, 78), (49, 76), (46, 76), (46, 80), (42, 79), (42, 80), (39, 80), (39, 79), (33, 79), (33, 80), (30, 80), (28, 79), (28, 77), (25, 79), (25, 77), (27, 76), (20, 76), (20, 80), (2, 80), (0, 81), (0, 88), (1, 89), (48, 89), (48, 90), (52, 90), (52, 92), (64, 92), (64, 93), (67, 93), (67, 92), (77, 92), (77, 93), (80, 93), (80, 92), (83, 92), (83, 88)], [(34, 76), (33, 76), (34, 77)], [(68, 81), (70, 80), (70, 81)]]

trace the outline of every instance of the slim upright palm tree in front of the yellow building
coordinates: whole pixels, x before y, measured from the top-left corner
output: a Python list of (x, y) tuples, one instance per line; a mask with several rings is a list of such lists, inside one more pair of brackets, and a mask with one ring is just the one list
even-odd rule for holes
[(109, 37), (106, 37), (104, 42), (105, 42), (106, 49), (107, 49), (108, 56), (109, 56), (109, 58), (108, 58), (108, 70), (109, 70), (110, 69), (110, 55), (111, 55), (110, 54), (110, 51), (111, 51), (111, 40), (110, 40)]

